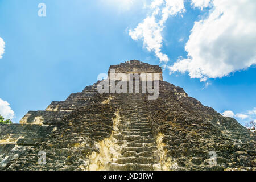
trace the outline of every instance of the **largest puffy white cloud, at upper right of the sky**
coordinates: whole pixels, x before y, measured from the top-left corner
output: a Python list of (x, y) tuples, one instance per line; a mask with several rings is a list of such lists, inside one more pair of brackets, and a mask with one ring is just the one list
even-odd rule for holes
[(209, 16), (195, 22), (185, 51), (168, 67), (170, 73), (189, 72), (191, 78), (217, 78), (256, 64), (256, 1), (192, 0), (195, 7), (213, 6)]

